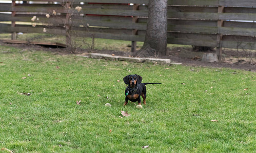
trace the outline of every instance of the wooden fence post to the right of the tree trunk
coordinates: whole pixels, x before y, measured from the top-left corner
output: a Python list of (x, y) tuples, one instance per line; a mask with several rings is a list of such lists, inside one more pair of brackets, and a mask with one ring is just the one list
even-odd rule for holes
[[(218, 7), (218, 13), (223, 13), (224, 12), (224, 6), (219, 6)], [(223, 20), (218, 20), (218, 29), (220, 29), (221, 27), (223, 27)], [(217, 49), (217, 55), (218, 55), (218, 59), (220, 62), (223, 61), (222, 59), (222, 47), (221, 47), (221, 41), (222, 41), (222, 36), (223, 34), (219, 33), (218, 30), (218, 34), (217, 34), (217, 42), (218, 42), (218, 47)]]

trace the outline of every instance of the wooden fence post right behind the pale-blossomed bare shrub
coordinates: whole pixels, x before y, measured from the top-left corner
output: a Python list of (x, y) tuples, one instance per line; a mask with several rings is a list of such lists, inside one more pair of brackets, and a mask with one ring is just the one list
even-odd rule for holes
[(72, 47), (72, 42), (71, 42), (71, 19), (70, 19), (70, 7), (71, 7), (71, 2), (66, 2), (65, 4), (67, 14), (66, 14), (66, 21), (65, 21), (65, 28), (66, 28), (66, 45), (68, 47)]

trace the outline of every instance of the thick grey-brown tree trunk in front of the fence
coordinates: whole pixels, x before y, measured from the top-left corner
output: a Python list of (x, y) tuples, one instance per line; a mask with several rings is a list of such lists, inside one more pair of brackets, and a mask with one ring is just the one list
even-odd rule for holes
[(165, 56), (167, 49), (167, 0), (149, 0), (145, 41), (136, 57)]

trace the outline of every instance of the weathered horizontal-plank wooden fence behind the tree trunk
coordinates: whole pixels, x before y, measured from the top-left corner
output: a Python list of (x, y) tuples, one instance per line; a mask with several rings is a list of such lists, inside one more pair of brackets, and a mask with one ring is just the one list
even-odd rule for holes
[[(64, 1), (69, 3), (64, 4)], [(67, 40), (72, 33), (81, 37), (93, 35), (95, 38), (144, 41), (148, 0), (29, 2), (33, 3), (0, 4), (0, 33), (12, 32), (13, 39), (14, 32), (23, 32), (65, 35)], [(82, 8), (80, 12), (75, 10), (77, 6)], [(36, 20), (31, 21), (33, 16)], [(168, 43), (217, 47), (220, 55), (221, 47), (256, 49), (254, 19), (255, 0), (169, 0)], [(11, 21), (11, 24), (3, 21)], [(33, 23), (37, 25), (32, 27)]]

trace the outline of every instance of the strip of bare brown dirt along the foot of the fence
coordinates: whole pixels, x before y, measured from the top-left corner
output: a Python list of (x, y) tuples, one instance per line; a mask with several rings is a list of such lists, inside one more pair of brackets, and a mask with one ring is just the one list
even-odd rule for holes
[[(71, 54), (66, 48), (47, 48), (38, 45), (26, 45), (26, 44), (6, 44), (0, 42), (0, 45), (8, 45), (23, 49), (33, 49), (33, 50), (45, 50), (48, 52), (53, 52), (55, 54), (67, 55)], [(192, 47), (191, 47), (192, 48)], [(202, 57), (204, 53), (215, 53), (214, 51), (207, 52), (192, 52), (189, 47), (181, 48), (168, 48), (167, 55), (160, 58), (170, 59), (171, 62), (182, 63), (186, 66), (202, 66), (202, 67), (226, 67), (232, 69), (244, 69), (248, 71), (256, 71), (256, 51), (244, 51), (244, 50), (231, 50), (223, 49), (224, 62), (213, 62), (207, 63), (202, 62)], [(102, 54), (114, 54), (116, 56), (131, 56), (131, 52), (121, 52), (115, 50), (87, 50), (87, 49), (77, 49), (77, 55), (88, 55), (89, 53), (102, 53)]]

